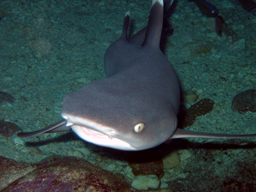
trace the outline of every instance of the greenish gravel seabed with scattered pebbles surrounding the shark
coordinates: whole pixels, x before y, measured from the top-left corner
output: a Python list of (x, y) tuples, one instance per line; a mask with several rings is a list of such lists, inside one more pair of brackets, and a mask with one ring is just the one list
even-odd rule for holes
[[(180, 127), (255, 134), (256, 16), (238, 0), (209, 2), (225, 21), (221, 36), (215, 17), (194, 2), (174, 1), (168, 14), (173, 32), (163, 51), (183, 93)], [(120, 37), (125, 13), (131, 11), (131, 35), (147, 25), (150, 6), (149, 0), (0, 1), (0, 156), (28, 164), (76, 156), (130, 184), (136, 175), (156, 174), (161, 188), (175, 192), (256, 191), (255, 138), (175, 139), (129, 153), (87, 143), (73, 132), (16, 136), (60, 121), (65, 95), (105, 78), (104, 53)], [(133, 157), (141, 162), (134, 164)], [(161, 165), (157, 173), (141, 168), (151, 158), (150, 166)]]

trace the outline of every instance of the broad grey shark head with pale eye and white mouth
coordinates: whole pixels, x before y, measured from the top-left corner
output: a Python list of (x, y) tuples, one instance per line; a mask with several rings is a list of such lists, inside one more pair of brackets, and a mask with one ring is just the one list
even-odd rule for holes
[(168, 140), (177, 125), (173, 110), (131, 87), (120, 90), (117, 82), (116, 77), (100, 79), (68, 94), (61, 113), (67, 126), (88, 142), (122, 150), (153, 148)]

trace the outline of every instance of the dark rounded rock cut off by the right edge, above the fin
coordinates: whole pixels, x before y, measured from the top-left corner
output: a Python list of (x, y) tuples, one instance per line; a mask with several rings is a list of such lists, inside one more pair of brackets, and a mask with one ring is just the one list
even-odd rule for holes
[(238, 93), (232, 100), (232, 110), (239, 113), (256, 112), (256, 89)]

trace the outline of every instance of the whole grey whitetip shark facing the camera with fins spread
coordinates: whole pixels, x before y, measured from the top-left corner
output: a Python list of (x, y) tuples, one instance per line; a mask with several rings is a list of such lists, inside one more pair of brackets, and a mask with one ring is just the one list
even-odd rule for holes
[(148, 25), (130, 39), (130, 12), (124, 17), (121, 37), (104, 57), (107, 78), (92, 81), (69, 93), (62, 103), (64, 120), (19, 137), (73, 130), (96, 145), (121, 150), (144, 150), (175, 138), (246, 138), (192, 132), (177, 128), (180, 87), (171, 63), (160, 51), (164, 3), (153, 0)]

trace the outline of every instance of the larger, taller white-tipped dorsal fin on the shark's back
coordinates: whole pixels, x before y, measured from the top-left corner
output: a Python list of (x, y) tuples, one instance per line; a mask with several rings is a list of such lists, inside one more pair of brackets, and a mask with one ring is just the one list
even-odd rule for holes
[(146, 36), (142, 46), (159, 48), (163, 27), (163, 7), (163, 0), (152, 1)]

